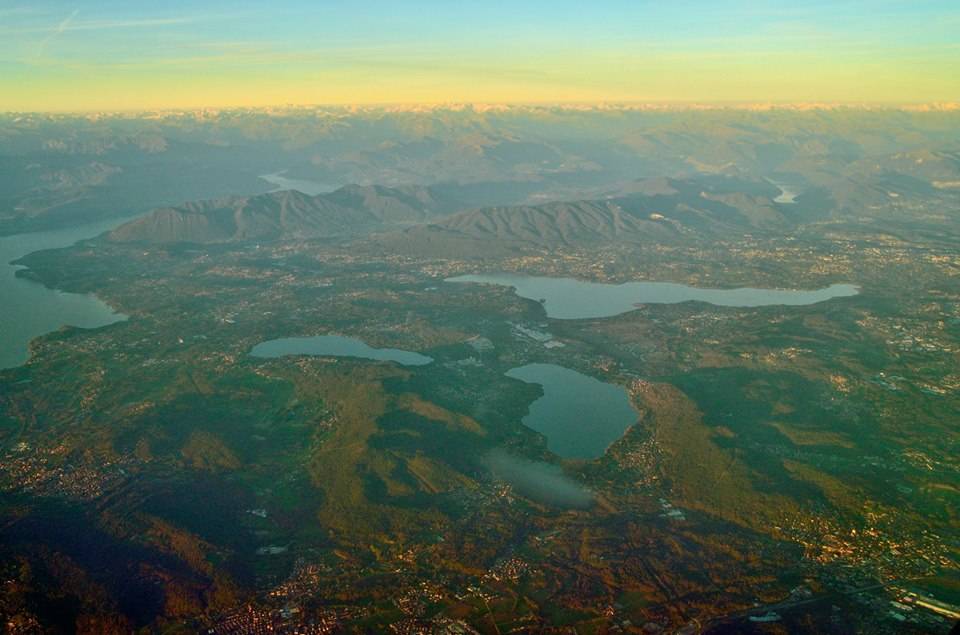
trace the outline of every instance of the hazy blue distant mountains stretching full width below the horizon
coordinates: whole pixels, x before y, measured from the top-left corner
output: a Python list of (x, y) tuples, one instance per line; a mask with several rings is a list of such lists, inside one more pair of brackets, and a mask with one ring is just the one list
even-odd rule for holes
[(259, 194), (275, 172), (430, 186), (462, 209), (591, 200), (640, 175), (767, 177), (819, 189), (849, 215), (945, 225), (955, 218), (936, 210), (956, 208), (958, 124), (949, 105), (0, 114), (0, 235)]

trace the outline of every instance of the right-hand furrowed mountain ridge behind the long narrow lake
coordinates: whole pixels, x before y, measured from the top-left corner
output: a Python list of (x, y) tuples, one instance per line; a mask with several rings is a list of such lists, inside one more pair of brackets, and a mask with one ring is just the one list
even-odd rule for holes
[(602, 199), (469, 210), (376, 241), (387, 249), (442, 256), (675, 243), (791, 227), (785, 211), (790, 206), (773, 201), (778, 193), (769, 183), (743, 179), (646, 179)]

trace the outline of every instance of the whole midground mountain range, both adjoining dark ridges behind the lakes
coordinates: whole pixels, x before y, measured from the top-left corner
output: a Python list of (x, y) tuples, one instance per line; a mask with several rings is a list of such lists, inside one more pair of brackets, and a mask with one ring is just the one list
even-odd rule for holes
[(283, 191), (159, 208), (117, 228), (109, 239), (211, 244), (375, 235), (373, 242), (392, 251), (438, 255), (675, 242), (783, 231), (798, 215), (810, 213), (801, 201), (777, 203), (779, 194), (762, 180), (658, 178), (590, 200), (468, 209), (437, 188), (350, 185), (316, 196)]

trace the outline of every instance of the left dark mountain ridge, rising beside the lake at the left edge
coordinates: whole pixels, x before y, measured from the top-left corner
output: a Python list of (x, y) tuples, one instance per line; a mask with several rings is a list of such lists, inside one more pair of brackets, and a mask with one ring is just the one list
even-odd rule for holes
[(423, 223), (460, 209), (429, 188), (348, 185), (310, 196), (296, 190), (184, 203), (118, 227), (114, 242), (226, 243), (348, 237)]

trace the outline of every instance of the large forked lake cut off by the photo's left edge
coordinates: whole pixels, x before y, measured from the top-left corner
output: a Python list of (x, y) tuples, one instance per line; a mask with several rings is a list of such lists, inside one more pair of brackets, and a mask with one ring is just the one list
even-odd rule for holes
[(126, 319), (96, 296), (55, 291), (18, 278), (16, 271), (20, 267), (10, 262), (41, 249), (68, 247), (128, 220), (112, 219), (69, 229), (0, 237), (0, 368), (23, 364), (30, 340), (61, 326), (93, 328)]

